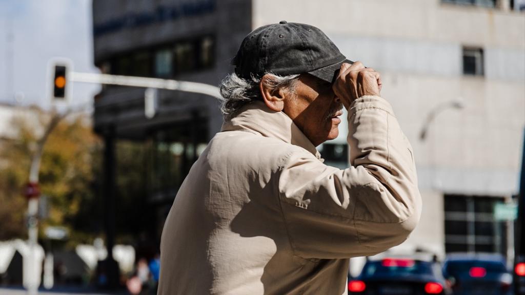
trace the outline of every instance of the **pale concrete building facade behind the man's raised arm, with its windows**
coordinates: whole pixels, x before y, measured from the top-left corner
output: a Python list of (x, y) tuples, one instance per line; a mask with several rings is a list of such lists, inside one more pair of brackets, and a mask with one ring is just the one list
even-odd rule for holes
[(318, 26), (346, 57), (382, 73), (382, 96), (413, 145), (424, 199), (404, 247), (507, 254), (509, 228), (492, 211), (519, 186), (525, 15), (517, 5), (253, 2), (254, 28), (280, 19)]

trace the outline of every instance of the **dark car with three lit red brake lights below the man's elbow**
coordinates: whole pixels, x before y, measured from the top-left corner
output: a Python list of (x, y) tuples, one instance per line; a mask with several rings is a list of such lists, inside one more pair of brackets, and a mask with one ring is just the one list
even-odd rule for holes
[(369, 295), (450, 293), (435, 259), (410, 256), (367, 260), (358, 277), (349, 277), (348, 292)]

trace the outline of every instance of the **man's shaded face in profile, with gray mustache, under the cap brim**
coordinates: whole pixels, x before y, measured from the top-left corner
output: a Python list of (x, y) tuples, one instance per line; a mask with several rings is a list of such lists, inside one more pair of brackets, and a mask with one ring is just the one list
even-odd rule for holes
[(342, 107), (331, 83), (303, 74), (297, 81), (296, 94), (287, 98), (283, 112), (317, 146), (339, 135)]

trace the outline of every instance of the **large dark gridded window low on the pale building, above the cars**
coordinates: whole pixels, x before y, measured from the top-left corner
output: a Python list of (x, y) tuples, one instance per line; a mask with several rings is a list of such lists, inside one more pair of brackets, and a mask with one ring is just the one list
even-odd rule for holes
[(493, 217), (496, 203), (503, 198), (445, 195), (445, 251), (504, 254), (507, 231)]

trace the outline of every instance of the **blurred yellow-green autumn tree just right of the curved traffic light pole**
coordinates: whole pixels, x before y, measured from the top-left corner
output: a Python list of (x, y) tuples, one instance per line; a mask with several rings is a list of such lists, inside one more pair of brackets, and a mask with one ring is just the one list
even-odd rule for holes
[(91, 243), (102, 229), (102, 214), (95, 184), (100, 175), (102, 144), (86, 116), (63, 120), (44, 146), (40, 186), (48, 196), (49, 213), (44, 228), (65, 226), (70, 243)]

